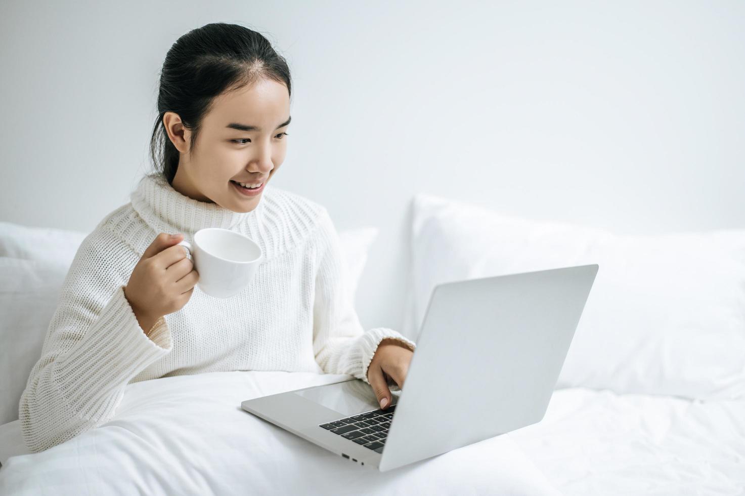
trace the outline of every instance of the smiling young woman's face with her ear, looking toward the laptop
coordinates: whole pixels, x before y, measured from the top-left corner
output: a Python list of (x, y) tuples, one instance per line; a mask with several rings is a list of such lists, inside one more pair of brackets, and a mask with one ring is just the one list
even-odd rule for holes
[(232, 181), (266, 184), (279, 169), (287, 153), (290, 97), (284, 84), (266, 79), (219, 95), (203, 119), (191, 155), (191, 131), (179, 116), (167, 112), (163, 122), (180, 151), (174, 189), (197, 201), (250, 212), (262, 192), (244, 195)]

